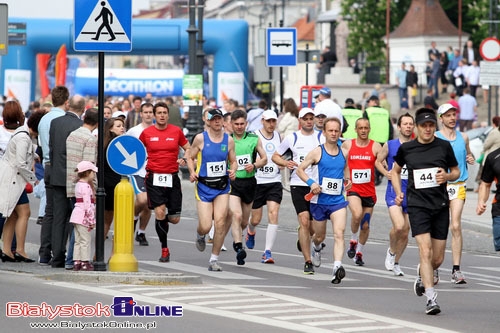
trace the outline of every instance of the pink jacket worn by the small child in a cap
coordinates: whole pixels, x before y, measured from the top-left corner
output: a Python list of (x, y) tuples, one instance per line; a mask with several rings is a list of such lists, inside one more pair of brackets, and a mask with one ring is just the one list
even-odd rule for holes
[(70, 222), (91, 226), (95, 224), (95, 200), (94, 192), (90, 185), (83, 181), (78, 181), (75, 185), (76, 203), (71, 213)]

